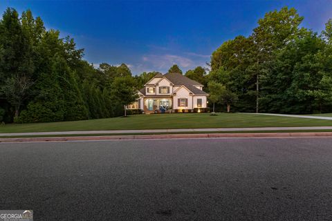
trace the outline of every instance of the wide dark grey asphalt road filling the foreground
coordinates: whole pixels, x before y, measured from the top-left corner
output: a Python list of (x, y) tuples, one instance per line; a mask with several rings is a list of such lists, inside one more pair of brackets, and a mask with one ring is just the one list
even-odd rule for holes
[(35, 220), (332, 220), (332, 138), (0, 144)]

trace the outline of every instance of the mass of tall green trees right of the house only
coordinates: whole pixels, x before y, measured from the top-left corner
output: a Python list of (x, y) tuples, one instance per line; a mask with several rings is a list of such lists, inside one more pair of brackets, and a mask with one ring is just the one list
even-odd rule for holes
[(303, 19), (294, 8), (268, 12), (249, 37), (216, 49), (206, 76), (216, 102), (241, 112), (331, 113), (332, 20), (318, 34), (300, 27)]

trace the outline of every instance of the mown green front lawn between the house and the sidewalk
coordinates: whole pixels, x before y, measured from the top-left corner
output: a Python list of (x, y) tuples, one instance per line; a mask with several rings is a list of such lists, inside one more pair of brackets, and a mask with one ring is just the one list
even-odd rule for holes
[(165, 115), (131, 115), (130, 117), (90, 119), (76, 122), (6, 124), (0, 126), (0, 133), (156, 128), (243, 128), (264, 126), (332, 126), (332, 121), (239, 113), (219, 113), (217, 116), (204, 113), (180, 113)]

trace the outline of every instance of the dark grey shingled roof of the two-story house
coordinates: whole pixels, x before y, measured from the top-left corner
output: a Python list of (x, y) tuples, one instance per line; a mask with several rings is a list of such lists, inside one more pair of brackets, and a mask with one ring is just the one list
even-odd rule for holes
[[(185, 77), (181, 75), (180, 73), (166, 73), (165, 75), (161, 75), (160, 73), (157, 73), (154, 77), (162, 78), (165, 77), (169, 81), (171, 81), (176, 86), (185, 86), (188, 90), (190, 90), (194, 95), (208, 95), (208, 93), (205, 93), (203, 90), (199, 90), (199, 88), (196, 88), (195, 86), (203, 86), (203, 84), (200, 84), (197, 81), (194, 81), (188, 77)], [(194, 86), (195, 85), (195, 86)], [(140, 89), (140, 93), (142, 95), (146, 95), (145, 88)]]

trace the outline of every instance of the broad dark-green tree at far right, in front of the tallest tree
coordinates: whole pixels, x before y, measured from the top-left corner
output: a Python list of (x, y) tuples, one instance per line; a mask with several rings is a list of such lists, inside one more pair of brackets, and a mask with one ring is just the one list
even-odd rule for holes
[(273, 113), (329, 110), (332, 62), (324, 55), (326, 48), (316, 33), (302, 30), (279, 50), (266, 66), (266, 77), (261, 79), (262, 109)]

